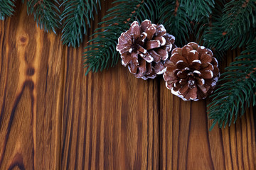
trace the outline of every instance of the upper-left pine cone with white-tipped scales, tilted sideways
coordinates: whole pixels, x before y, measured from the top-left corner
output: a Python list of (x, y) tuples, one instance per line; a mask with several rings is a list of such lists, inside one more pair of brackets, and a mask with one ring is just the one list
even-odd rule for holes
[(145, 20), (139, 26), (134, 21), (129, 30), (118, 38), (117, 51), (121, 55), (122, 65), (128, 65), (129, 72), (135, 77), (154, 79), (156, 74), (163, 74), (164, 62), (169, 58), (174, 40), (163, 25)]

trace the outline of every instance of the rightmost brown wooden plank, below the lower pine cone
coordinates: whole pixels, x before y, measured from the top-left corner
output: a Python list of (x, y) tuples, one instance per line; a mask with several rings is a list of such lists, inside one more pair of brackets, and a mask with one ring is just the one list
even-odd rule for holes
[[(240, 50), (228, 52), (228, 63)], [(227, 66), (221, 62), (220, 68)], [(230, 128), (215, 127), (207, 118), (208, 101), (182, 101), (160, 86), (161, 169), (256, 169), (253, 108)]]

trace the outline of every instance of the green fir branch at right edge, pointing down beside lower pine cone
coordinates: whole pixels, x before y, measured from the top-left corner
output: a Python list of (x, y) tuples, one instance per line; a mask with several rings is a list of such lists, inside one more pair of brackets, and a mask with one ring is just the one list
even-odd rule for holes
[(215, 91), (211, 97), (213, 101), (209, 104), (209, 118), (213, 120), (213, 125), (224, 128), (228, 124), (234, 123), (245, 113), (246, 108), (256, 105), (256, 40), (247, 47), (247, 50), (235, 58), (235, 62), (227, 67), (222, 74), (220, 81), (226, 81)]

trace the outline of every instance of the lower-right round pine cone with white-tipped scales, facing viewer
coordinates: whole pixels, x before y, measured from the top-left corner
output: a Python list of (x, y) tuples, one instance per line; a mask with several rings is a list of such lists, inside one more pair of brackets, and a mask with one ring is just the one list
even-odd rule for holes
[(166, 87), (183, 101), (206, 98), (213, 92), (220, 74), (213, 52), (195, 42), (174, 48), (165, 66)]

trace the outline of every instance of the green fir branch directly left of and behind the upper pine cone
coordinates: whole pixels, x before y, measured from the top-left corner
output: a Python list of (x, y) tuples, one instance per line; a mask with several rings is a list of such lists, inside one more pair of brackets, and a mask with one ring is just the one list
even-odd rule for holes
[[(87, 72), (97, 72), (108, 68), (110, 65), (113, 67), (119, 60), (117, 55), (116, 45), (117, 39), (125, 30), (129, 29), (130, 23), (134, 20), (144, 21), (149, 19), (156, 21), (156, 13), (159, 13), (160, 5), (158, 1), (154, 0), (117, 0), (114, 3), (119, 3), (113, 8), (110, 8), (108, 14), (102, 18), (100, 24), (101, 28), (96, 31), (104, 30), (95, 33), (91, 45), (85, 47), (84, 64), (87, 67)], [(112, 60), (112, 61), (110, 61)]]

